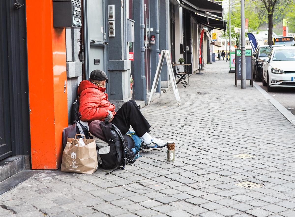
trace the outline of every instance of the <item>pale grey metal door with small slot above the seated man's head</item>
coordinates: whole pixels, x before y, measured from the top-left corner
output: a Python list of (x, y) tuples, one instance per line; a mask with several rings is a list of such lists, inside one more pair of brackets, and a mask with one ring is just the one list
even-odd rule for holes
[(94, 69), (106, 71), (106, 4), (103, 0), (85, 2), (86, 79)]

